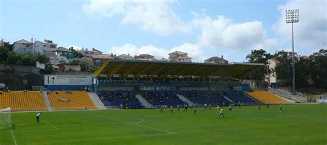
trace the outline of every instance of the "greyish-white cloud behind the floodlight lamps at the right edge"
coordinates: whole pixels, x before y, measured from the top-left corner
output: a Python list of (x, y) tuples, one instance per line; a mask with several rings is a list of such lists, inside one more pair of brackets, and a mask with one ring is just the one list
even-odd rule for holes
[[(295, 0), (279, 6), (280, 17), (273, 28), (281, 39), (292, 39), (291, 24), (286, 23), (285, 10), (299, 9), (299, 23), (294, 23), (295, 46), (300, 51), (319, 50), (326, 48), (327, 41), (327, 15), (326, 1), (324, 0)], [(315, 48), (310, 50), (308, 48)], [(307, 54), (308, 55), (308, 54)]]

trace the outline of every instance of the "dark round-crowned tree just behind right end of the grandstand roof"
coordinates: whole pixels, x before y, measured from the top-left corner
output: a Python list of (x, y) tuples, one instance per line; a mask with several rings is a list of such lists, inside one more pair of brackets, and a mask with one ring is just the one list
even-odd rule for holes
[(264, 64), (264, 67), (259, 68), (257, 71), (252, 72), (253, 79), (261, 80), (264, 76), (271, 74), (274, 70), (269, 68), (268, 59), (271, 59), (272, 56), (266, 50), (251, 50), (251, 53), (246, 56), (251, 63), (261, 63)]

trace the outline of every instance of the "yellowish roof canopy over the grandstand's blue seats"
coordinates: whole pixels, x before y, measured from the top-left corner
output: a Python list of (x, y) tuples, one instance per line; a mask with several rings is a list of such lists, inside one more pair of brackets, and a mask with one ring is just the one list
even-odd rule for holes
[(233, 77), (236, 79), (248, 75), (256, 68), (264, 64), (253, 63), (231, 63), (231, 64), (204, 64), (204, 63), (184, 63), (167, 61), (126, 61), (110, 60), (106, 61), (96, 70), (94, 77), (106, 75), (157, 75), (157, 76), (219, 76)]

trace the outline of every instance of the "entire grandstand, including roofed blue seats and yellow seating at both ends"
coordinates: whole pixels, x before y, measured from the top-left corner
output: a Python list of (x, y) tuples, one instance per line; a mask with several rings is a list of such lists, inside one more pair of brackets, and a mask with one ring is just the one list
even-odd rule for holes
[(0, 107), (88, 110), (290, 103), (267, 91), (253, 92), (242, 83), (242, 79), (262, 66), (110, 60), (93, 76), (45, 75), (48, 91), (0, 92)]

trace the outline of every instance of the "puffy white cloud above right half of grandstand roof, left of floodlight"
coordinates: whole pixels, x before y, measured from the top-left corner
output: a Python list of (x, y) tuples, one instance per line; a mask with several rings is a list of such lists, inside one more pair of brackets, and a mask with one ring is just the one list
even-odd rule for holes
[(233, 23), (223, 16), (216, 19), (204, 16), (193, 19), (192, 23), (199, 29), (199, 45), (208, 48), (248, 49), (266, 44), (268, 39), (259, 21)]

